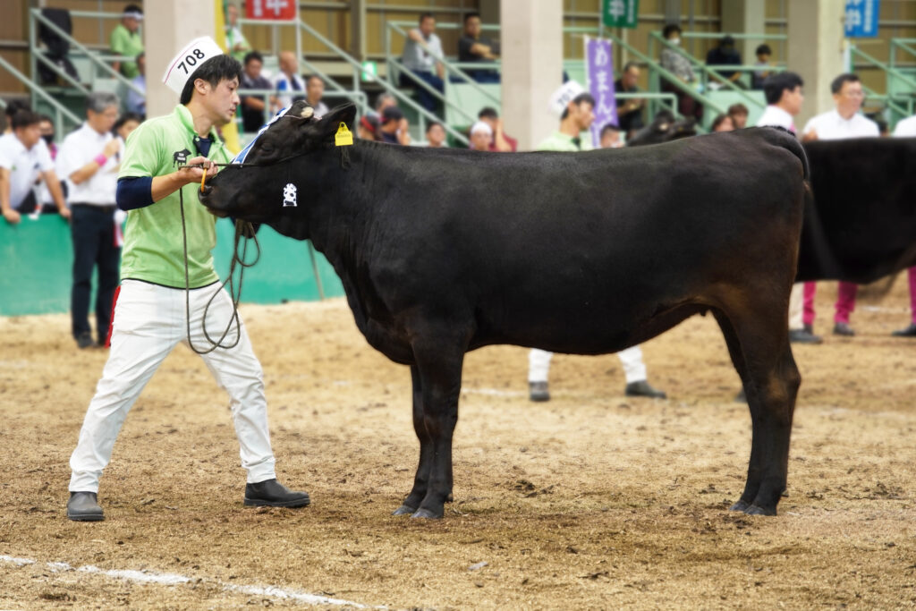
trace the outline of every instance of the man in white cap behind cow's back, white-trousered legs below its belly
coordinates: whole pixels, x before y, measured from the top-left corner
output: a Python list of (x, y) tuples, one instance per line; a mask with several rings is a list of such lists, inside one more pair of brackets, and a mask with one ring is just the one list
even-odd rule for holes
[[(570, 81), (554, 93), (551, 108), (560, 115), (560, 129), (543, 140), (538, 150), (583, 151), (591, 150), (589, 127), (594, 123), (594, 98), (585, 93), (582, 86)], [(583, 137), (584, 134), (584, 137)], [(533, 348), (529, 353), (528, 385), (532, 401), (549, 401), (550, 390), (547, 376), (551, 370), (553, 353)], [(642, 361), (642, 350), (638, 345), (617, 353), (624, 367), (627, 397), (665, 398), (665, 393), (649, 385), (646, 379), (646, 365)]]

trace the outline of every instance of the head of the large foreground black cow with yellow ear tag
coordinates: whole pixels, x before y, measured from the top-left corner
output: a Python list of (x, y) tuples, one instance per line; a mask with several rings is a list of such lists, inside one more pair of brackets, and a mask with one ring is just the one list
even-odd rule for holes
[(293, 104), (257, 136), (244, 163), (224, 167), (199, 191), (202, 204), (217, 216), (300, 235), (303, 229), (285, 225), (305, 221), (315, 185), (322, 180), (316, 156), (333, 147), (341, 123), (353, 130), (355, 114), (353, 104), (344, 104), (318, 119), (309, 104)]

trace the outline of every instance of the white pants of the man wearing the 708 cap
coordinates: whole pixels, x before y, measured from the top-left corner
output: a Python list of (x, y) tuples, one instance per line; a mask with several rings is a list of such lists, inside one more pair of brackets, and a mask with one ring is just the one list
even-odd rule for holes
[[(202, 321), (207, 301), (219, 285), (191, 290), (191, 341), (198, 350), (210, 343)], [(82, 422), (80, 442), (70, 458), (71, 492), (98, 492), (99, 478), (111, 460), (112, 448), (127, 411), (172, 349), (188, 343), (185, 293), (138, 280), (125, 280), (114, 306), (111, 355)], [(207, 312), (207, 331), (214, 341), (232, 317), (232, 300), (220, 289)], [(203, 361), (219, 387), (229, 393), (242, 466), (249, 484), (275, 477), (274, 454), (267, 431), (267, 401), (261, 364), (251, 349), (244, 323), (232, 349), (217, 348)], [(235, 325), (223, 344), (232, 344)], [(188, 440), (190, 444), (193, 440)]]

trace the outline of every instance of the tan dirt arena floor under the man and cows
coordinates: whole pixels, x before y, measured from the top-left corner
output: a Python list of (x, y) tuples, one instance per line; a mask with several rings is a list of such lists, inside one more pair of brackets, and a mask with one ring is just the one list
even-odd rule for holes
[(747, 407), (722, 335), (694, 317), (644, 346), (668, 400), (626, 398), (619, 361), (558, 356), (553, 400), (527, 354), (468, 355), (455, 502), (395, 518), (418, 443), (409, 371), (365, 344), (344, 300), (245, 306), (278, 473), (302, 510), (242, 507), (228, 401), (183, 346), (128, 417), (106, 520), (64, 516), (68, 459), (105, 360), (67, 316), (0, 320), (0, 608), (911, 608), (916, 341), (905, 275), (862, 299), (858, 335), (794, 349), (803, 382), (776, 518), (726, 510), (745, 482)]

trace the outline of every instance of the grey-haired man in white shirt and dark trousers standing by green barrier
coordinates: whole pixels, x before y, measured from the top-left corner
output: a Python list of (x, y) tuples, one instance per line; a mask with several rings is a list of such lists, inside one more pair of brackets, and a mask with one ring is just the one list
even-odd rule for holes
[(114, 211), (120, 141), (112, 135), (120, 102), (114, 93), (86, 98), (86, 122), (60, 145), (57, 165), (67, 180), (72, 214), (73, 286), (71, 331), (80, 348), (95, 345), (89, 326), (93, 268), (98, 268), (95, 333), (104, 345), (118, 285), (121, 248), (115, 245)]

